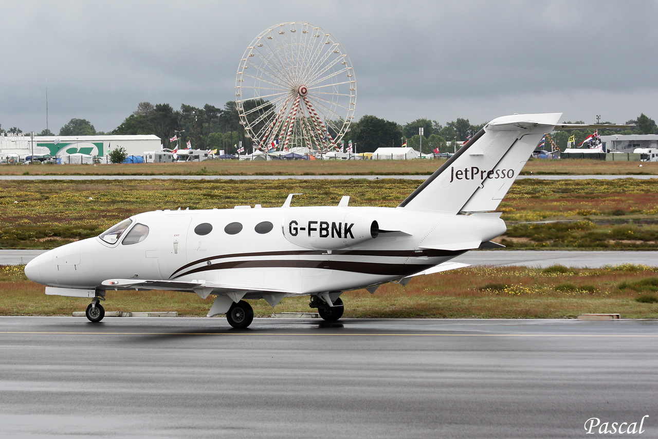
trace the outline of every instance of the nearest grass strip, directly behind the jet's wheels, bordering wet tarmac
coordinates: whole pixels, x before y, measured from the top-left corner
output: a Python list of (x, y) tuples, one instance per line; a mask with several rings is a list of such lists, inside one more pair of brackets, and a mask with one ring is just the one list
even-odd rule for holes
[[(658, 317), (658, 269), (623, 265), (606, 269), (473, 267), (418, 276), (407, 286), (386, 284), (374, 294), (345, 292), (345, 317), (359, 318), (574, 318), (584, 313), (620, 313), (624, 318)], [(108, 292), (107, 311), (178, 311), (205, 316), (212, 296), (179, 292)], [(250, 301), (256, 315), (309, 312), (308, 297), (289, 297), (272, 309)], [(22, 266), (0, 266), (0, 315), (70, 315), (87, 299), (45, 296)]]

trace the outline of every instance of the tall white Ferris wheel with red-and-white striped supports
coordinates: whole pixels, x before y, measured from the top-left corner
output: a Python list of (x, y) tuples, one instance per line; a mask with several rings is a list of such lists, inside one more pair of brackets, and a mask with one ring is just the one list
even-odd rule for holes
[(357, 82), (334, 36), (309, 23), (281, 23), (257, 36), (240, 61), (236, 107), (261, 151), (332, 150), (354, 118)]

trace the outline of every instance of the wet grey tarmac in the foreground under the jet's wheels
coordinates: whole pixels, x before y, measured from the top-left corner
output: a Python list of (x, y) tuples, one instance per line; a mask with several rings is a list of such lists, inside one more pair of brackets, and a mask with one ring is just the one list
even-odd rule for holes
[(658, 436), (658, 322), (0, 317), (3, 438)]

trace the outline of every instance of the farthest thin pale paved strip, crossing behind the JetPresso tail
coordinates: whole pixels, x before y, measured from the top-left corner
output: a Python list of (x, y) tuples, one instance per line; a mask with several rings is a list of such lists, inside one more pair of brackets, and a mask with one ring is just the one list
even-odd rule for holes
[[(0, 175), (0, 180), (427, 180), (428, 175)], [(520, 175), (517, 179), (539, 180), (617, 180), (637, 178), (649, 180), (658, 175)]]

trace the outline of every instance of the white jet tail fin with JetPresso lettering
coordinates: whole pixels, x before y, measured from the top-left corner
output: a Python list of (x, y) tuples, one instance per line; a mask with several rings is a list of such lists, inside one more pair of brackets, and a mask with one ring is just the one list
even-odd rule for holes
[(486, 124), (399, 207), (448, 214), (495, 210), (562, 113), (511, 115)]

